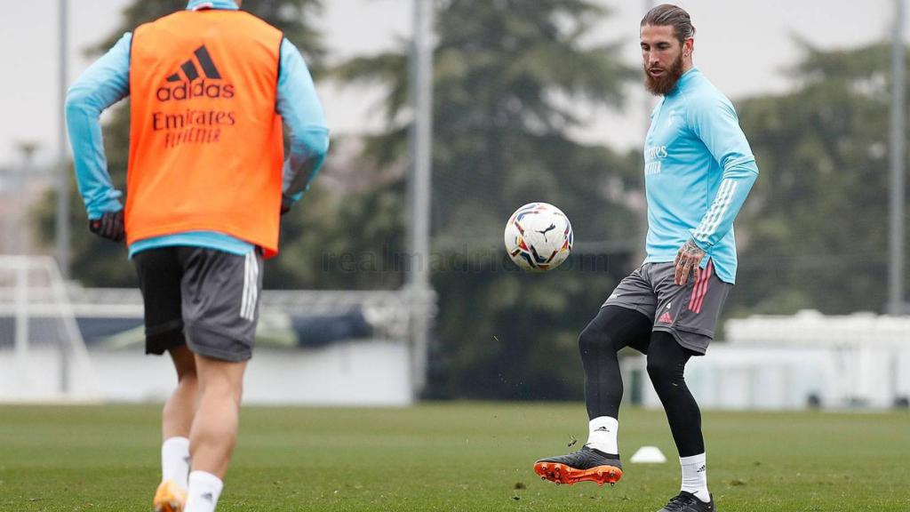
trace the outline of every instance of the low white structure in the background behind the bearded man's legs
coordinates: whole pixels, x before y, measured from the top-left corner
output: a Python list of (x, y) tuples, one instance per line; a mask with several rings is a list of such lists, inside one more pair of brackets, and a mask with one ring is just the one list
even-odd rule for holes
[[(686, 382), (705, 409), (889, 408), (910, 399), (910, 317), (854, 313), (753, 316), (724, 325), (726, 343), (686, 365)], [(660, 401), (644, 358), (642, 404)], [(644, 378), (640, 378), (644, 377)]]

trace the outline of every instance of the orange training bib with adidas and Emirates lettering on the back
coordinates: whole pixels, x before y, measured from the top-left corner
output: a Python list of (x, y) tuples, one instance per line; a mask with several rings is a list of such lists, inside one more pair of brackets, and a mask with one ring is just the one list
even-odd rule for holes
[(282, 38), (242, 11), (181, 11), (136, 28), (128, 243), (208, 230), (278, 253)]

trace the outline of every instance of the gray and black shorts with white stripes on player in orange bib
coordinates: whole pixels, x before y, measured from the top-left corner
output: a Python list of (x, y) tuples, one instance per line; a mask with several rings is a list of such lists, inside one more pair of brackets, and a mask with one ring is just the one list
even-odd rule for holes
[(200, 247), (161, 247), (133, 261), (146, 305), (146, 353), (187, 343), (193, 353), (222, 361), (253, 355), (262, 254), (238, 256)]

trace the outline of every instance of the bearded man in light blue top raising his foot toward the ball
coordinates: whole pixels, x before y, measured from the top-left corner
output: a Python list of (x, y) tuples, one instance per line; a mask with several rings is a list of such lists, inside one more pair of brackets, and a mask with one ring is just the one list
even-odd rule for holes
[(588, 442), (534, 471), (561, 484), (614, 484), (622, 377), (617, 352), (647, 355), (682, 466), (680, 493), (659, 512), (716, 512), (708, 491), (702, 415), (685, 384), (704, 355), (736, 275), (733, 220), (758, 177), (733, 105), (693, 65), (695, 28), (676, 5), (642, 19), (645, 87), (661, 97), (644, 143), (648, 236), (642, 266), (622, 280), (579, 336)]

